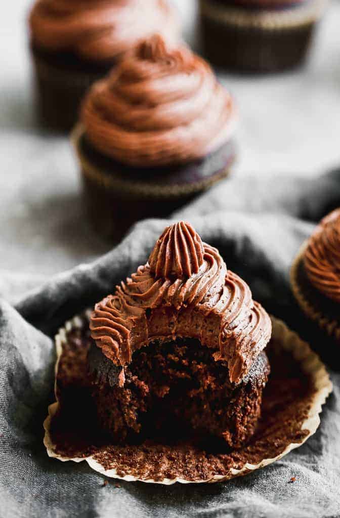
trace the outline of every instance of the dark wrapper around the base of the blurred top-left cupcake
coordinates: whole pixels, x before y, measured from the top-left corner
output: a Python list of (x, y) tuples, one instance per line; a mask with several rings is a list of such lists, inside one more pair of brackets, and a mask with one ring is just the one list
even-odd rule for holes
[(32, 51), (36, 77), (36, 103), (41, 121), (55, 130), (68, 131), (78, 118), (82, 97), (101, 74), (68, 70)]

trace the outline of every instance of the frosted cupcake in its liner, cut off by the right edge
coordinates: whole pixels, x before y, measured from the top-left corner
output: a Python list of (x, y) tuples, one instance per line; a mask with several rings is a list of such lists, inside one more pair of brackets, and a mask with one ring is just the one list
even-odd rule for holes
[(340, 344), (340, 209), (323, 218), (291, 268), (293, 294), (306, 316)]

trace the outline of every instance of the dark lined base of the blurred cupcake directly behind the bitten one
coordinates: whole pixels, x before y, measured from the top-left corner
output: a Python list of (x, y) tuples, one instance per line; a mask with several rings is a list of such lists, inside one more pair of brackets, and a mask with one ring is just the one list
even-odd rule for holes
[(235, 159), (233, 142), (186, 165), (129, 167), (76, 138), (84, 202), (97, 232), (119, 241), (139, 220), (166, 218), (225, 178)]

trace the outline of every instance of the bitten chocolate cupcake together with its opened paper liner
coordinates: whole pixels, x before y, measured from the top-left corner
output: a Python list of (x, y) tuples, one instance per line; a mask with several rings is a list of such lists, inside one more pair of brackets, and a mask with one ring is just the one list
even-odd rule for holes
[(163, 484), (274, 462), (315, 432), (332, 385), (272, 322), (271, 338), (248, 285), (190, 224), (167, 227), (144, 266), (56, 336), (48, 454)]

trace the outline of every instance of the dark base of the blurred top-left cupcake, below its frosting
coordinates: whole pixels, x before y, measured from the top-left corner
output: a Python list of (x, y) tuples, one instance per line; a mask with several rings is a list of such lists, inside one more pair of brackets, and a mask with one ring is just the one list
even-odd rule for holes
[(37, 118), (50, 130), (68, 132), (78, 120), (81, 100), (113, 63), (93, 64), (69, 53), (51, 54), (32, 47)]

